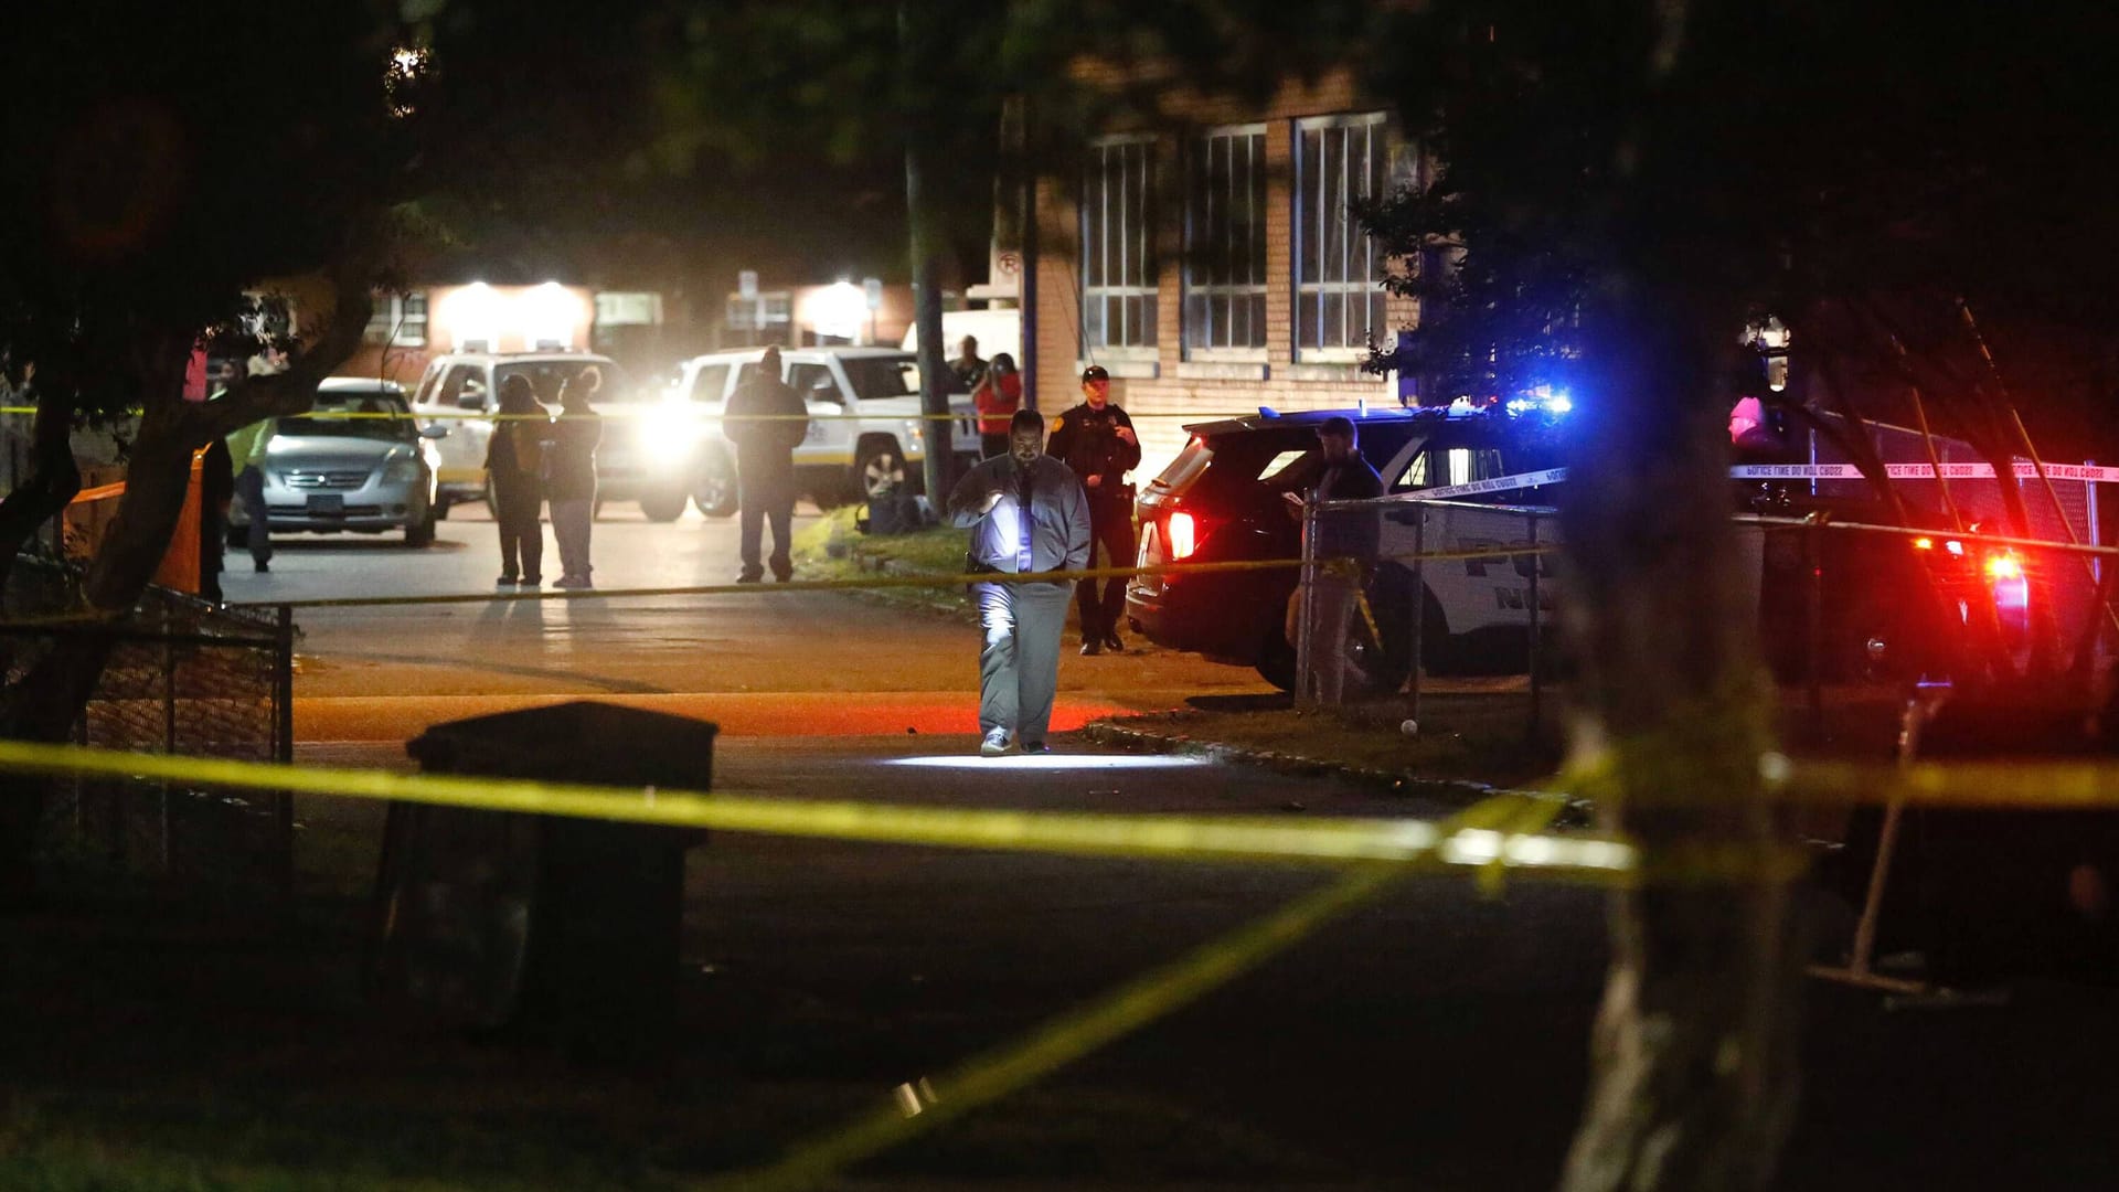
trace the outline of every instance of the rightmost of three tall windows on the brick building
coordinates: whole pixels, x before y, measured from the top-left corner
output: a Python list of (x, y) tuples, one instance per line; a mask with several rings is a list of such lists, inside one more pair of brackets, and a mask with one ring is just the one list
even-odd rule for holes
[(1295, 121), (1295, 354), (1350, 361), (1384, 333), (1384, 257), (1348, 210), (1390, 176), (1382, 112)]

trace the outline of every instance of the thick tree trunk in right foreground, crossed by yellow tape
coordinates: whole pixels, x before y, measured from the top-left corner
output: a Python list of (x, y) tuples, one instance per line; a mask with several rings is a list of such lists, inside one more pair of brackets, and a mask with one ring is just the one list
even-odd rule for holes
[[(1699, 314), (1706, 310), (1706, 314)], [(1572, 747), (1604, 827), (1642, 857), (1610, 901), (1610, 974), (1568, 1192), (1771, 1181), (1797, 1086), (1803, 944), (1769, 861), (1774, 691), (1729, 530), (1729, 327), (1740, 310), (1627, 295), (1564, 509), (1581, 655)], [(1687, 859), (1712, 857), (1702, 872)]]

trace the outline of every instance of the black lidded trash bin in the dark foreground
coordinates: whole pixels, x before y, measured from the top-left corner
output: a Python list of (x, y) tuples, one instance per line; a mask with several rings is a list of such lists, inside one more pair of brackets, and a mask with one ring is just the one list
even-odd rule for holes
[[(434, 725), (434, 774), (610, 787), (712, 785), (718, 725), (572, 702)], [(676, 1003), (684, 851), (706, 840), (600, 819), (392, 804), (371, 993), (477, 1033), (636, 1052)]]

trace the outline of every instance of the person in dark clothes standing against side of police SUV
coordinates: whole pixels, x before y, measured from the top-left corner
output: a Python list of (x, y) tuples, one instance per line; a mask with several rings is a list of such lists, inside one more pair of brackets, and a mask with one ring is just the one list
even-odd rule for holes
[[(1318, 448), (1324, 471), (1310, 490), (1310, 501), (1373, 501), (1384, 494), (1384, 477), (1360, 456), (1352, 418), (1326, 418), (1318, 426)], [(1282, 494), (1295, 518), (1303, 515), (1303, 496)], [(1363, 583), (1375, 568), (1382, 522), (1375, 509), (1324, 509), (1316, 520), (1316, 579), (1310, 585), (1310, 615), (1316, 617), (1312, 691), (1326, 708), (1346, 698), (1348, 636), (1354, 626), (1354, 604)], [(1297, 598), (1297, 615), (1301, 615)], [(1299, 641), (1299, 621), (1290, 617), (1288, 641)]]

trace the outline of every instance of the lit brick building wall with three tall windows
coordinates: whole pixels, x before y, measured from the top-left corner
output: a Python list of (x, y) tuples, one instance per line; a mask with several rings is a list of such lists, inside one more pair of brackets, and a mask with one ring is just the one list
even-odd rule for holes
[(1329, 76), (1263, 108), (1172, 93), (1168, 129), (1085, 146), (1076, 185), (1034, 197), (1034, 384), (1076, 401), (1087, 363), (1140, 420), (1140, 477), (1185, 443), (1185, 416), (1401, 401), (1360, 371), (1418, 303), (1384, 295), (1352, 199), (1415, 180), (1384, 108)]

